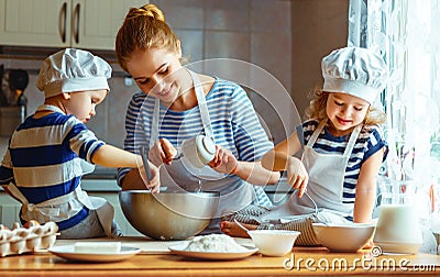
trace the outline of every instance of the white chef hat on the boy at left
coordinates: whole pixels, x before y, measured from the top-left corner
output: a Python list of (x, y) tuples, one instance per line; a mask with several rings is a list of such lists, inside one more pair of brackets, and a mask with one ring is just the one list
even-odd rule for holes
[(66, 48), (44, 59), (36, 87), (50, 98), (62, 92), (110, 90), (110, 65), (81, 49)]

